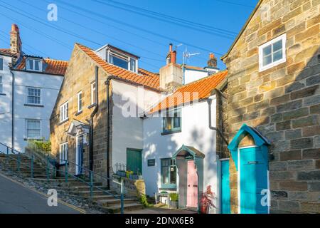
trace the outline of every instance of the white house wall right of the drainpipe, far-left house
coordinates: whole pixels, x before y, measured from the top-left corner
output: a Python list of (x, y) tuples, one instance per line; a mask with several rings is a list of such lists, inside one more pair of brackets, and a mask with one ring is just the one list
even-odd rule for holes
[[(16, 150), (24, 151), (26, 141), (26, 119), (41, 120), (41, 137), (50, 138), (50, 115), (63, 82), (63, 76), (25, 71), (13, 71), (14, 83), (14, 135)], [(26, 106), (26, 88), (41, 88), (41, 105)]]

